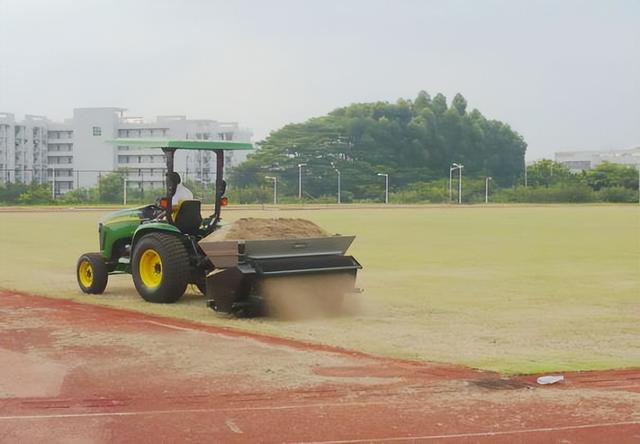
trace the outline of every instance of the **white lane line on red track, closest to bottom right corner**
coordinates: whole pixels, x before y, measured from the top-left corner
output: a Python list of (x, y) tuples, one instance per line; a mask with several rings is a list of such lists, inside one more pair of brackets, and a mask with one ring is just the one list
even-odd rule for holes
[[(449, 435), (423, 435), (423, 436), (400, 436), (395, 438), (367, 438), (367, 439), (345, 439), (337, 441), (302, 441), (304, 444), (351, 444), (361, 442), (400, 442), (400, 441), (416, 441), (416, 440), (430, 440), (430, 439), (455, 439), (455, 438), (481, 438), (501, 435), (516, 435), (523, 433), (541, 433), (541, 432), (557, 432), (563, 430), (583, 430), (583, 429), (595, 429), (600, 427), (618, 427), (624, 425), (640, 425), (638, 421), (629, 422), (605, 422), (601, 424), (581, 424), (575, 426), (560, 426), (560, 427), (539, 427), (533, 429), (516, 429), (516, 430), (503, 430), (499, 432), (471, 432), (471, 433), (454, 433)], [(301, 443), (300, 443), (301, 444)]]

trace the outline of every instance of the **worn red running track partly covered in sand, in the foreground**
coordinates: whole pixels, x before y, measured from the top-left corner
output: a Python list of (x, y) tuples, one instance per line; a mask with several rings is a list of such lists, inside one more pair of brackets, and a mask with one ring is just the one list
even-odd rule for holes
[(639, 370), (565, 377), (0, 292), (0, 442), (640, 442)]

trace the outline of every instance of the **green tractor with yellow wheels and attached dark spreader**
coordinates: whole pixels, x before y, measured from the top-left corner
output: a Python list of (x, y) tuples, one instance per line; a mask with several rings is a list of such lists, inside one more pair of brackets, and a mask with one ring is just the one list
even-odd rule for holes
[(287, 276), (327, 277), (340, 282), (324, 297), (340, 303), (357, 291), (361, 265), (346, 250), (353, 236), (277, 240), (206, 239), (220, 227), (224, 196), (225, 150), (249, 150), (249, 143), (160, 139), (117, 139), (118, 145), (136, 145), (164, 152), (167, 173), (174, 171), (176, 150), (204, 150), (216, 154), (216, 191), (213, 214), (201, 215), (199, 200), (172, 206), (175, 187), (167, 182), (167, 195), (157, 204), (116, 211), (98, 225), (99, 253), (78, 259), (77, 280), (85, 293), (104, 292), (110, 274), (128, 273), (140, 296), (154, 303), (173, 303), (194, 284), (207, 296), (212, 309), (235, 315), (262, 312), (262, 290), (268, 280)]

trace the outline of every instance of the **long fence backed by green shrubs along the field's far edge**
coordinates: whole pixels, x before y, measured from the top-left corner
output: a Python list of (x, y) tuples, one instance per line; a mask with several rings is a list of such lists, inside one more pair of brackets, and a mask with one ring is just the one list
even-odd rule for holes
[[(639, 174), (636, 167), (608, 162), (589, 171), (571, 172), (551, 160), (531, 164), (527, 176), (514, 183), (500, 183), (482, 174), (451, 181), (439, 175), (427, 175), (417, 182), (407, 178), (413, 170), (391, 170), (389, 175), (358, 174), (334, 168), (307, 165), (303, 169), (279, 171), (231, 170), (227, 195), (232, 202), (265, 204), (277, 198), (278, 203), (336, 203), (340, 201), (384, 202), (389, 179), (392, 203), (633, 203), (640, 199)], [(29, 204), (120, 204), (149, 203), (164, 194), (163, 168), (130, 168), (117, 171), (43, 169), (0, 170), (0, 205)], [(414, 172), (415, 173), (415, 172)], [(215, 177), (211, 172), (180, 171), (188, 188), (204, 202), (211, 203)], [(382, 178), (380, 176), (385, 176)], [(53, 180), (55, 179), (55, 181)], [(277, 196), (274, 196), (277, 182)], [(303, 190), (299, 186), (303, 184)], [(461, 196), (458, 191), (461, 190)]]

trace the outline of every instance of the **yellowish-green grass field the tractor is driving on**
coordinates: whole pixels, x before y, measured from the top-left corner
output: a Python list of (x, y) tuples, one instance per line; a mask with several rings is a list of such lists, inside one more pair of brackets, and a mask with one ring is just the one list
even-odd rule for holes
[(640, 367), (640, 208), (495, 206), (233, 210), (356, 234), (358, 314), (229, 319), (188, 294), (142, 301), (130, 276), (77, 289), (97, 211), (0, 213), (0, 287), (503, 373)]

